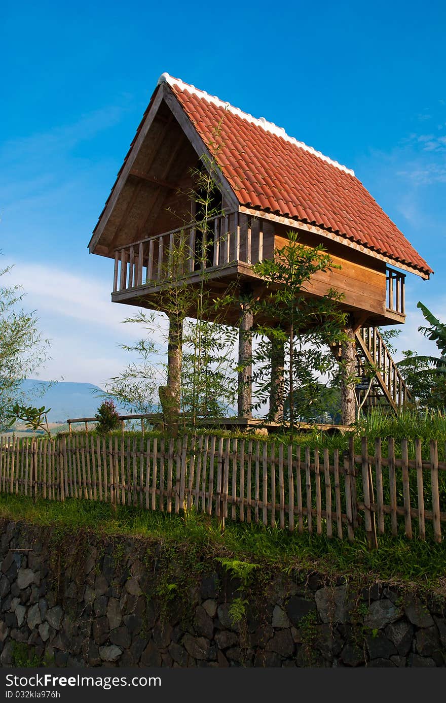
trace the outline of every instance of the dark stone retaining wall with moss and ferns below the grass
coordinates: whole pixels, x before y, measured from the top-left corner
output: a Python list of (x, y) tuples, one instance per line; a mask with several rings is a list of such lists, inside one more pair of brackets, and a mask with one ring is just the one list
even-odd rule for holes
[(209, 559), (180, 593), (156, 543), (0, 527), (1, 666), (445, 666), (442, 598)]

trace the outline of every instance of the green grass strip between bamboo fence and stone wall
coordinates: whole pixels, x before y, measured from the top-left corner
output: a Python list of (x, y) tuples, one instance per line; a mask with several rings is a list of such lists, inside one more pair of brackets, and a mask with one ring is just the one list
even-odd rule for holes
[(386, 582), (446, 595), (446, 549), (429, 537), (424, 542), (386, 536), (379, 539), (379, 549), (370, 552), (360, 529), (353, 543), (235, 522), (227, 522), (222, 532), (216, 520), (195, 512), (166, 515), (124, 506), (115, 512), (107, 503), (34, 502), (14, 495), (0, 496), (0, 517), (65, 535), (83, 531), (100, 538), (136, 536), (165, 547), (199, 550), (205, 562), (221, 557), (257, 562), (271, 573), (285, 572), (296, 578), (317, 572), (329, 579), (343, 576), (357, 586)]

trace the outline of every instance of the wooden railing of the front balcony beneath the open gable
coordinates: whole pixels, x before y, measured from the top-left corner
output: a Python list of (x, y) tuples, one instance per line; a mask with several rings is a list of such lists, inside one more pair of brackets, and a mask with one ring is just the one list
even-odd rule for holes
[(256, 264), (263, 260), (260, 222), (252, 224), (247, 215), (231, 212), (209, 219), (205, 228), (194, 223), (119, 247), (114, 252), (113, 292), (233, 262)]

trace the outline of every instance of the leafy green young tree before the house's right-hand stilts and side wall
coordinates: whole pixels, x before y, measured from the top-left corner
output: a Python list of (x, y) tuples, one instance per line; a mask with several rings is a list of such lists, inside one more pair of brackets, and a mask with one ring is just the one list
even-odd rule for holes
[(343, 340), (346, 318), (339, 307), (342, 295), (336, 290), (327, 290), (322, 297), (308, 295), (310, 278), (317, 271), (334, 268), (329, 254), (322, 246), (301, 245), (294, 231), (288, 233), (288, 239), (284, 247), (275, 250), (273, 259), (253, 267), (265, 281), (266, 293), (251, 304), (260, 337), (254, 355), (258, 364), (254, 372), (257, 406), (269, 399), (270, 415), (273, 413), (275, 419), (279, 419), (282, 406), (282, 417), (288, 420), (292, 434), (296, 407), (308, 412), (312, 401), (308, 391), (316, 392), (318, 377), (336, 368), (329, 346)]

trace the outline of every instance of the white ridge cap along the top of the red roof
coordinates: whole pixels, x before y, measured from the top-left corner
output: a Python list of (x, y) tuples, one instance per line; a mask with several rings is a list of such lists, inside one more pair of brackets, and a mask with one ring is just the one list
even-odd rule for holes
[(257, 127), (261, 127), (265, 131), (268, 131), (271, 134), (275, 134), (276, 136), (281, 137), (282, 139), (284, 139), (284, 141), (288, 141), (289, 143), (294, 144), (295, 146), (299, 146), (299, 148), (303, 149), (304, 151), (308, 151), (310, 154), (314, 154), (315, 156), (322, 159), (322, 161), (325, 161), (330, 165), (336, 167), (337, 169), (350, 174), (350, 176), (355, 175), (353, 169), (349, 169), (348, 167), (343, 166), (334, 159), (331, 159), (329, 156), (325, 156), (324, 154), (322, 154), (321, 151), (317, 151), (315, 148), (313, 148), (313, 146), (308, 146), (308, 144), (304, 143), (303, 141), (297, 140), (294, 136), (289, 136), (289, 134), (287, 134), (283, 127), (277, 127), (277, 124), (274, 124), (274, 122), (268, 122), (268, 120), (265, 120), (265, 117), (253, 117), (252, 115), (249, 115), (249, 112), (243, 112), (243, 110), (240, 110), (240, 108), (235, 108), (234, 105), (231, 105), (230, 103), (225, 103), (225, 101), (221, 100), (215, 95), (209, 95), (209, 93), (206, 93), (206, 91), (204, 90), (199, 90), (198, 88), (195, 88), (195, 86), (192, 86), (189, 83), (185, 83), (179, 78), (174, 78), (173, 76), (169, 75), (169, 73), (162, 73), (162, 75), (159, 76), (157, 85), (161, 83), (167, 83), (170, 86), (176, 85), (181, 88), (181, 90), (188, 90), (194, 95), (196, 95), (198, 98), (203, 98), (209, 103), (217, 105), (217, 107), (219, 108), (229, 110), (230, 112), (232, 112), (233, 115), (241, 117), (242, 120), (247, 120), (247, 122), (251, 122), (251, 124), (255, 124)]

